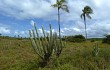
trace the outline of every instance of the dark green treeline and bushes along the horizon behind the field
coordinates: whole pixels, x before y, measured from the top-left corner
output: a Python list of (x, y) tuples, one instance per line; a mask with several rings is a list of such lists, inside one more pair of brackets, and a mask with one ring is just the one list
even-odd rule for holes
[[(22, 40), (22, 39), (29, 39), (26, 37), (11, 37), (11, 36), (2, 36), (0, 35), (0, 40), (1, 39), (18, 39), (18, 40)], [(40, 38), (41, 40), (43, 40), (43, 37)], [(48, 40), (48, 37), (47, 37)], [(68, 42), (84, 42), (86, 39), (83, 35), (74, 35), (74, 36), (64, 36), (62, 37), (63, 41), (68, 41)], [(88, 38), (87, 40), (90, 40), (91, 42), (95, 42), (95, 41), (102, 41), (102, 43), (108, 43), (110, 44), (110, 35), (106, 35), (104, 38)]]

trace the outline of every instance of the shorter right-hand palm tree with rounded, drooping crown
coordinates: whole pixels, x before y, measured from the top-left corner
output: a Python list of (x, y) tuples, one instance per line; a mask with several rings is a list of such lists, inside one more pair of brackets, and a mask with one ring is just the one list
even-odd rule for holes
[(85, 6), (84, 9), (82, 10), (81, 18), (84, 19), (84, 24), (85, 24), (85, 35), (86, 35), (86, 40), (87, 40), (87, 31), (86, 31), (86, 17), (91, 19), (90, 14), (93, 13), (93, 10), (89, 6)]

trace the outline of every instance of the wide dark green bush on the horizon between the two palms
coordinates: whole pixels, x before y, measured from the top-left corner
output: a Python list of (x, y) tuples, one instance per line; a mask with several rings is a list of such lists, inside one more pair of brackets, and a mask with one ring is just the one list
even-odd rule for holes
[(69, 42), (79, 43), (85, 41), (85, 37), (83, 35), (67, 36), (66, 40)]

